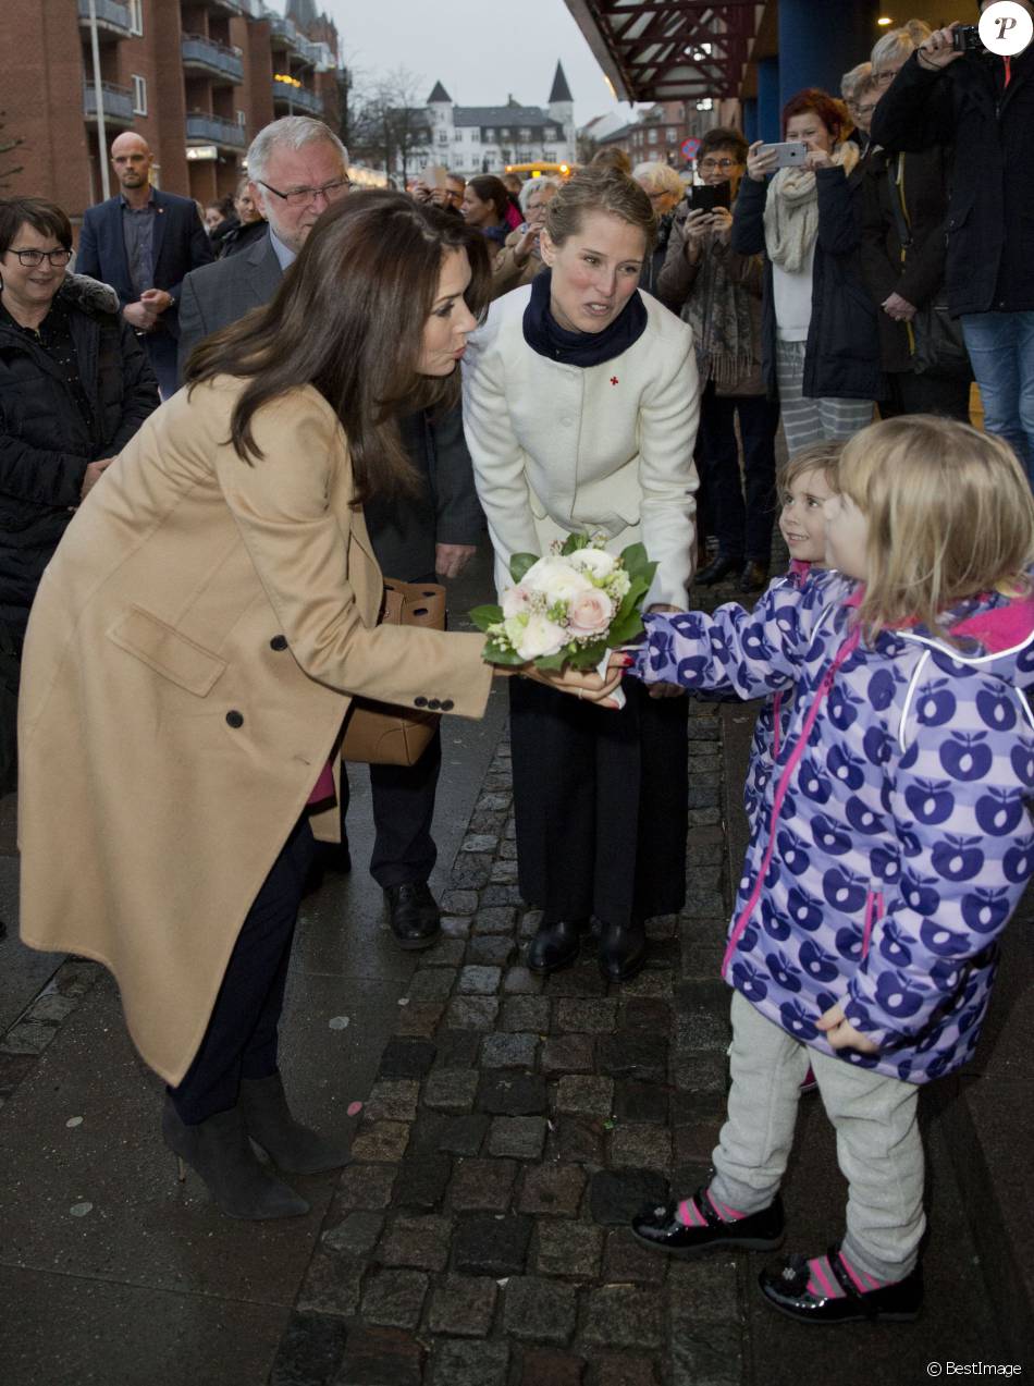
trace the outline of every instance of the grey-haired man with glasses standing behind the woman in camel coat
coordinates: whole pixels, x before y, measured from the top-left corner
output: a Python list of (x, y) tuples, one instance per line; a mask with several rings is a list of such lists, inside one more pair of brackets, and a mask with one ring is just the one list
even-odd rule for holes
[[(280, 287), (328, 201), (348, 191), (348, 152), (333, 132), (308, 116), (286, 116), (255, 136), (248, 150), (251, 195), (269, 222), (252, 247), (189, 274), (180, 306), (180, 370), (193, 348), (211, 333), (266, 304)], [(306, 198), (304, 194), (309, 193)], [(366, 523), (381, 571), (406, 582), (459, 577), (482, 528), (460, 410), (441, 419), (403, 420), (410, 460), (426, 478), (420, 502), (374, 507)], [(395, 938), (423, 948), (439, 931), (439, 909), (427, 884), (437, 859), (431, 837), (441, 769), (441, 740), (413, 766), (371, 765), (377, 829), (370, 873), (383, 887)], [(341, 841), (348, 783), (341, 778)], [(348, 848), (341, 848), (347, 869)]]

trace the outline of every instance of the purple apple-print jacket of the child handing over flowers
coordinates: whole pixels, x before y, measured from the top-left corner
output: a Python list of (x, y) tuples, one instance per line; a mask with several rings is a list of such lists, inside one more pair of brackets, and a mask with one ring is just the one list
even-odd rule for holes
[(793, 690), (722, 973), (825, 1053), (815, 1021), (843, 1005), (879, 1052), (839, 1058), (926, 1082), (972, 1058), (998, 936), (1034, 873), (1034, 600), (961, 604), (945, 622), (958, 647), (920, 626), (869, 646), (859, 600), (822, 572), (773, 584), (753, 613), (647, 615), (629, 672)]

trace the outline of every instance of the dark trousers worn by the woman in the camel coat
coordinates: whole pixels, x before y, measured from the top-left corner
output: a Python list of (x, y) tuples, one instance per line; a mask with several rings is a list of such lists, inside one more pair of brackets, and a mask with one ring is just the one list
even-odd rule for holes
[(187, 1125), (236, 1106), (241, 1078), (276, 1073), (287, 965), (313, 845), (304, 815), (241, 924), (201, 1048), (180, 1085), (169, 1089)]

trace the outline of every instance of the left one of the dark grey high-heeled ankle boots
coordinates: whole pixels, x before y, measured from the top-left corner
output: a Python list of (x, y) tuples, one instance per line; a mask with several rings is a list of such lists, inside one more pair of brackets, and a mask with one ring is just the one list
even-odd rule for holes
[(212, 1202), (229, 1217), (258, 1222), (309, 1211), (305, 1199), (262, 1168), (251, 1149), (240, 1107), (187, 1125), (166, 1096), (162, 1139), (179, 1159), (180, 1179), (186, 1179), (184, 1166), (189, 1164), (204, 1179)]

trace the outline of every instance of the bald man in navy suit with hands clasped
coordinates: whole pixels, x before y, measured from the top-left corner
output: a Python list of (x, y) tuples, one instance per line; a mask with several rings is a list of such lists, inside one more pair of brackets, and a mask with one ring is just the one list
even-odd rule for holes
[(151, 187), (154, 157), (139, 134), (119, 134), (111, 162), (122, 191), (87, 209), (76, 269), (115, 290), (168, 399), (176, 389), (180, 286), (211, 263), (212, 247), (193, 198)]

